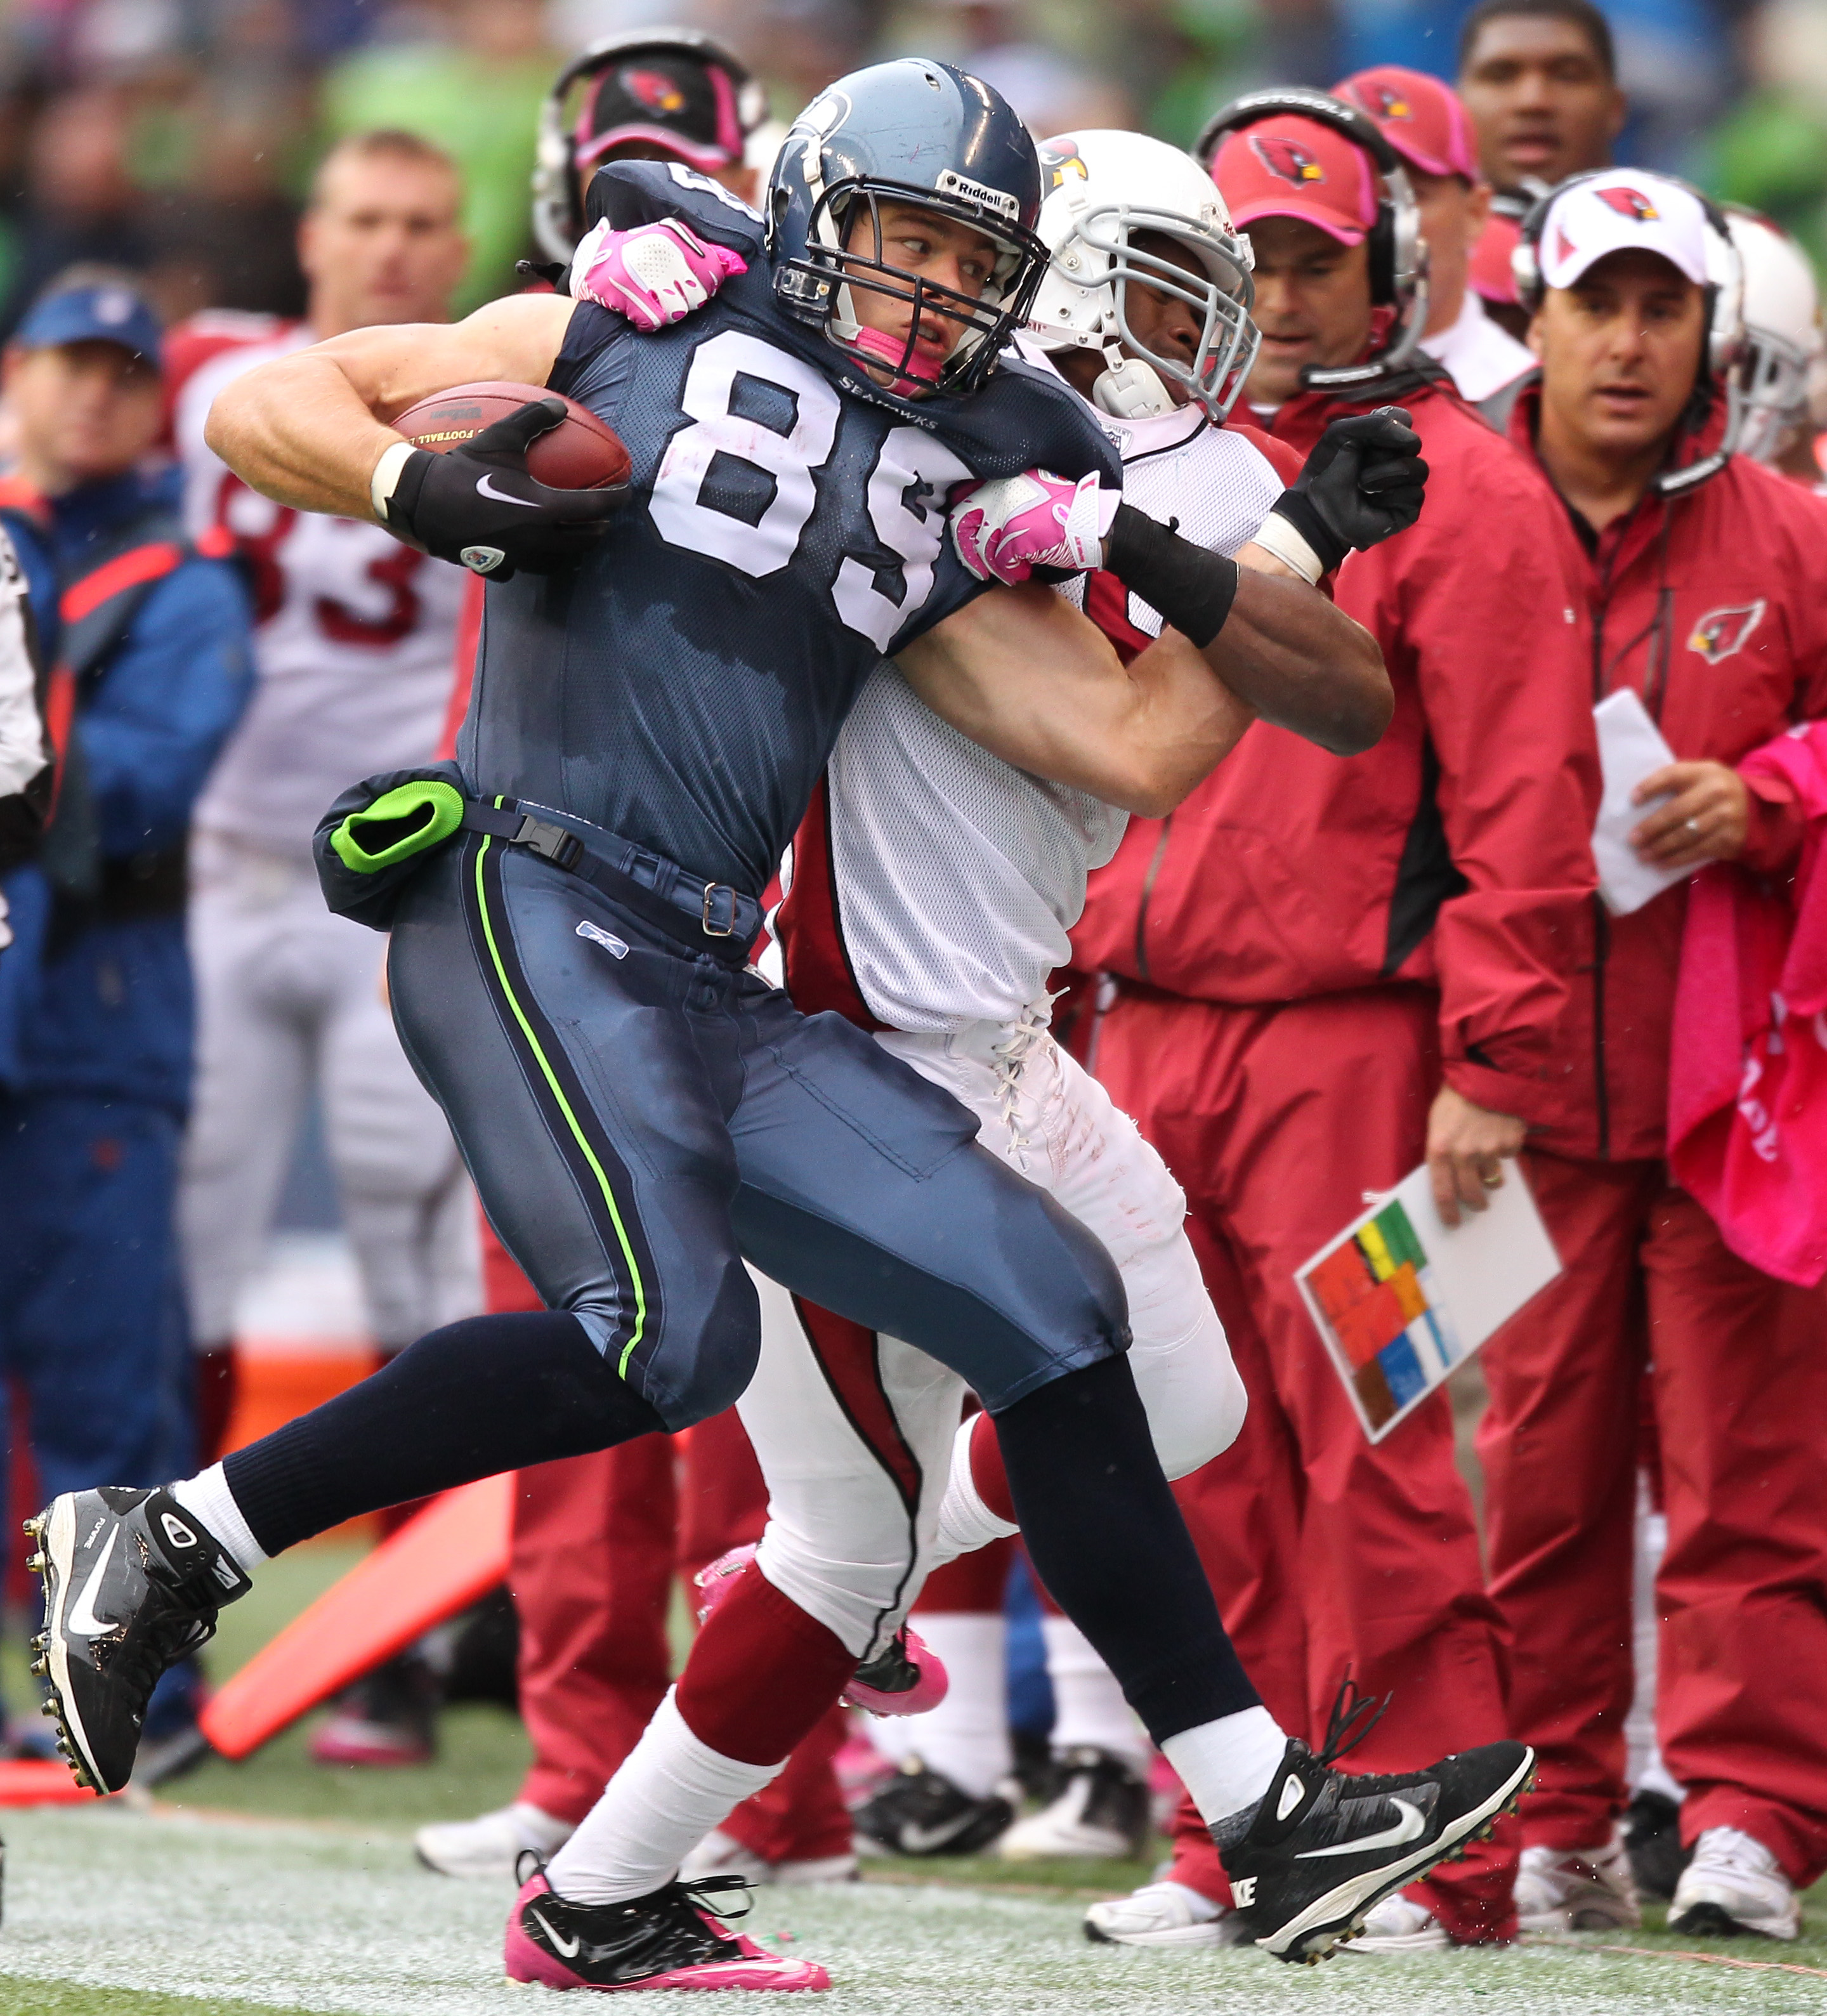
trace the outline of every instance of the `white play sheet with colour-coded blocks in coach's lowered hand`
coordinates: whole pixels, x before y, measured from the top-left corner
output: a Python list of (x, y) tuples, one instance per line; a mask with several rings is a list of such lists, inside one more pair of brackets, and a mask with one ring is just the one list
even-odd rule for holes
[(1381, 1441), (1561, 1272), (1529, 1183), (1448, 1226), (1422, 1165), (1295, 1272), (1371, 1441)]

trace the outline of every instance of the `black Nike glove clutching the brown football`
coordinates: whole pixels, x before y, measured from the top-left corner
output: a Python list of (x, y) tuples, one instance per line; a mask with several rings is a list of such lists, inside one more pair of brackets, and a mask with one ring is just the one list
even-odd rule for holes
[(415, 450), (387, 498), (389, 528), (490, 581), (573, 566), (609, 530), (627, 486), (551, 490), (526, 474), (526, 450), (563, 417), (563, 399), (528, 399), (448, 456)]

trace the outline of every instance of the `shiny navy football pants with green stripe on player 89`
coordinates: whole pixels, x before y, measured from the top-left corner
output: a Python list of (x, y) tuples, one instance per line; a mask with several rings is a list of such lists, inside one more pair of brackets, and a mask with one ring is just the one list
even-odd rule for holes
[(1103, 1246), (839, 1016), (470, 837), (393, 927), (393, 1014), (508, 1252), (665, 1421), (728, 1407), (752, 1260), (992, 1411), (1123, 1351)]

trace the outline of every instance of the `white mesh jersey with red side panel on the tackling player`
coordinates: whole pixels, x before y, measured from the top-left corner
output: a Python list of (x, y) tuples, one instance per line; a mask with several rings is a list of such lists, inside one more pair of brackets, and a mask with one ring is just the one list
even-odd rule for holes
[[(1123, 494), (1236, 552), (1283, 492), (1244, 435), (1198, 409), (1099, 415), (1123, 456)], [(1162, 619), (1107, 575), (1069, 583), (1125, 655)], [(1085, 877), (1117, 851), (1127, 812), (1043, 782), (942, 722), (883, 663), (849, 714), (795, 839), (780, 907), (786, 982), (807, 1012), (871, 1028), (954, 1032), (1045, 1016), (1051, 974), (1085, 907)]]

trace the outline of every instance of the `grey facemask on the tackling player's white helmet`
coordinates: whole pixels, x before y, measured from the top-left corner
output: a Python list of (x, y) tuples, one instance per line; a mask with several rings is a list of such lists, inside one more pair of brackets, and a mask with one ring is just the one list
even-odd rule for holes
[[(1137, 232), (1153, 232), (1186, 246), (1204, 270), (1190, 274), (1174, 260), (1135, 244)], [(1105, 204), (1087, 210), (1073, 236), (1061, 248), (1059, 260), (1069, 270), (1073, 244), (1107, 260), (1105, 288), (1111, 308), (1105, 321), (1105, 363), (1109, 371), (1097, 381), (1093, 397), (1121, 419), (1145, 419), (1172, 409), (1166, 383), (1184, 385), (1196, 405), (1212, 419), (1224, 419), (1262, 341), (1250, 321), (1256, 286), (1250, 278), (1248, 254), (1236, 240), (1226, 240), (1196, 218), (1172, 210), (1137, 210), (1133, 204)], [(1192, 363), (1149, 349), (1129, 325), (1129, 282), (1180, 300), (1200, 317), (1200, 335)], [(1121, 349), (1119, 349), (1121, 345)], [(1127, 357), (1123, 355), (1127, 353)], [(1143, 373), (1153, 373), (1158, 393)], [(1121, 403), (1117, 403), (1121, 401)]]

